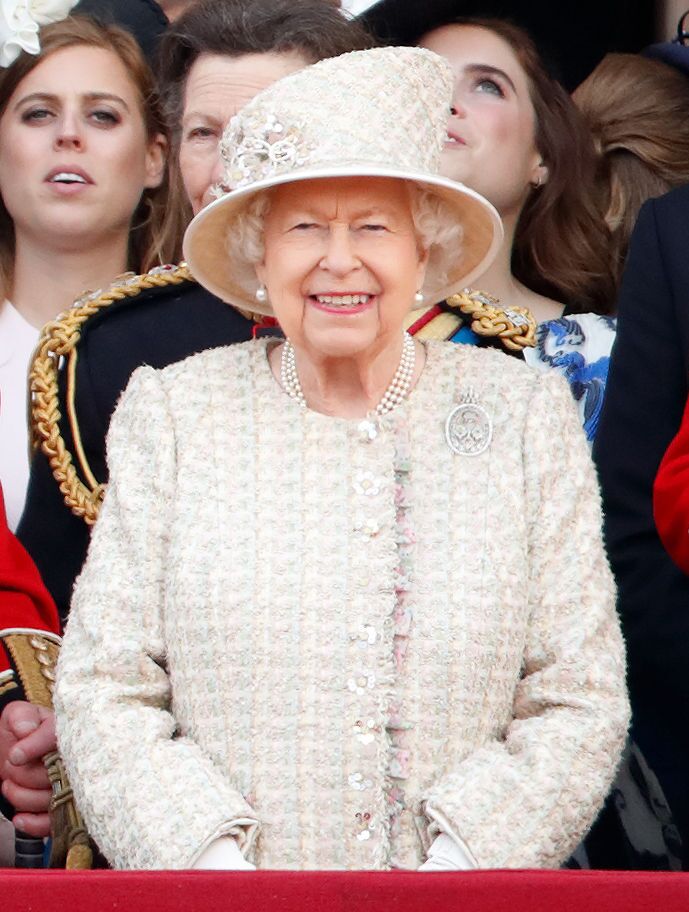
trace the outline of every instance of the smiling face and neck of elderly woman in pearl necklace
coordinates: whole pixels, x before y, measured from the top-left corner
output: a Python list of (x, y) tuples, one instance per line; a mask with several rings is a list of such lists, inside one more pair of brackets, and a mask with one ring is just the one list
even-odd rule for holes
[[(256, 273), (291, 345), (308, 353), (306, 363), (370, 362), (370, 379), (343, 403), (348, 417), (366, 414), (378, 404), (366, 386), (385, 389), (400, 361), (402, 320), (428, 261), (407, 187), (390, 178), (280, 187), (266, 216), (265, 246)], [(316, 371), (301, 384), (310, 402), (327, 398), (327, 380)]]

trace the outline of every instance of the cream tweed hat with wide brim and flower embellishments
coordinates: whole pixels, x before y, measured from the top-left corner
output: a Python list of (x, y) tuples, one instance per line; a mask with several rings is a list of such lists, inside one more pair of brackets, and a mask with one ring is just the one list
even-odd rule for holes
[(440, 301), (472, 282), (502, 242), (500, 216), (478, 193), (438, 174), (453, 90), (449, 65), (423, 48), (375, 48), (322, 60), (286, 76), (230, 121), (221, 151), (231, 192), (206, 206), (184, 236), (194, 278), (240, 308), (258, 279), (227, 238), (256, 196), (280, 184), (329, 177), (390, 177), (440, 197), (461, 223), (462, 241), (444, 268), (431, 256), (421, 289)]

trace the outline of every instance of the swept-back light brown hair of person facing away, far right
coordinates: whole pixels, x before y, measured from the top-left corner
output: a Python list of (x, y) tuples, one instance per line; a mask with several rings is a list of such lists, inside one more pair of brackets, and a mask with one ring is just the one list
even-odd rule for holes
[(642, 204), (689, 183), (689, 79), (658, 60), (608, 54), (572, 97), (593, 134), (619, 280)]

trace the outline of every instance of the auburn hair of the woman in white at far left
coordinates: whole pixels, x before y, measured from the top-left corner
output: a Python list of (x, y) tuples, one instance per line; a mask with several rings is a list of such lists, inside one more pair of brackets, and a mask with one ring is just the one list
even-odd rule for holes
[[(22, 51), (11, 66), (0, 71), (0, 117), (22, 79), (51, 54), (70, 47), (96, 47), (111, 51), (124, 64), (139, 93), (147, 137), (153, 139), (158, 133), (167, 136), (153, 74), (128, 32), (118, 26), (100, 25), (86, 16), (70, 16), (44, 26), (38, 34), (40, 53)], [(128, 265), (135, 272), (145, 272), (157, 263), (176, 259), (178, 240), (166, 229), (168, 212), (166, 178), (160, 187), (144, 190), (132, 216)], [(5, 294), (12, 284), (14, 244), (12, 218), (0, 198), (0, 286)]]

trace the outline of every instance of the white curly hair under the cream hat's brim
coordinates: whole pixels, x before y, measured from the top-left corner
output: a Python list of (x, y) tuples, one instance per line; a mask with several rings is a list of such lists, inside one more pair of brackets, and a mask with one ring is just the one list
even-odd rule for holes
[[(414, 230), (421, 250), (428, 251), (428, 270), (433, 284), (442, 288), (457, 261), (464, 228), (457, 213), (444, 199), (431, 190), (411, 182), (409, 199)], [(271, 191), (258, 193), (232, 223), (227, 236), (227, 251), (233, 263), (237, 281), (245, 288), (256, 288), (255, 267), (263, 262), (265, 244), (263, 230), (270, 211)]]

